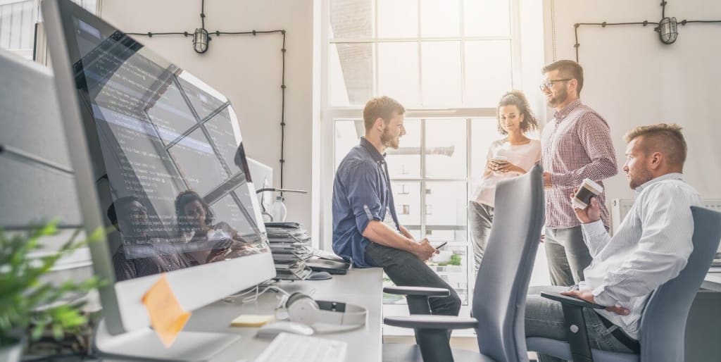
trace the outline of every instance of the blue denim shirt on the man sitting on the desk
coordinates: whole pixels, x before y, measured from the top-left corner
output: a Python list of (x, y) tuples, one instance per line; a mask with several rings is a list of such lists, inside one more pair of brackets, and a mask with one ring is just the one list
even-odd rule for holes
[(333, 251), (357, 268), (368, 268), (363, 231), (390, 210), (398, 227), (385, 155), (366, 138), (345, 156), (333, 181)]

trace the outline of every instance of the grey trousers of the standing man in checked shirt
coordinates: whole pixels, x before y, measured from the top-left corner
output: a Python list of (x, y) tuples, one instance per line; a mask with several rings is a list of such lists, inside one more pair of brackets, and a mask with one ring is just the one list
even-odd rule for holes
[(583, 242), (581, 226), (546, 228), (546, 257), (554, 286), (573, 286), (583, 281), (583, 270), (593, 258)]

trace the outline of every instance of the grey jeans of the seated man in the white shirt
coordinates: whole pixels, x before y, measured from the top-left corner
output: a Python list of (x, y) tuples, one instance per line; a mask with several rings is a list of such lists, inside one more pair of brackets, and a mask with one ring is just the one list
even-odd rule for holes
[[(569, 288), (566, 286), (532, 286), (528, 288), (526, 299), (526, 337), (544, 337), (554, 340), (568, 340), (566, 329), (563, 327), (563, 307), (558, 301), (545, 299), (541, 291), (561, 292)], [(590, 347), (609, 352), (632, 353), (626, 345), (616, 340), (611, 334), (615, 325), (606, 328), (601, 322), (601, 317), (590, 309), (583, 309), (588, 330), (588, 341)], [(542, 355), (539, 353), (539, 362), (563, 361), (560, 358)]]

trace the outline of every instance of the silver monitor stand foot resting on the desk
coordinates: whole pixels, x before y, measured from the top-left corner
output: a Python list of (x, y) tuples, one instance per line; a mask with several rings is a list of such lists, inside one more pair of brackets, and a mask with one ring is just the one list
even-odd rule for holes
[(105, 327), (105, 319), (102, 319), (95, 333), (94, 349), (104, 357), (142, 361), (208, 361), (240, 338), (240, 335), (228, 333), (184, 331), (166, 348), (150, 328), (111, 335)]

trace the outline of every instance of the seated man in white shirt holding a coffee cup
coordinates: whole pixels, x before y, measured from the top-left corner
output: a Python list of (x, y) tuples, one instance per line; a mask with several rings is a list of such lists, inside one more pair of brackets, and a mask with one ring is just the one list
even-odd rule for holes
[[(561, 304), (539, 295), (561, 291), (606, 306), (605, 310), (584, 310), (591, 348), (636, 351), (648, 297), (686, 266), (693, 250), (690, 208), (702, 202), (694, 187), (682, 179), (687, 147), (681, 127), (664, 123), (637, 127), (625, 139), (623, 170), (636, 192), (634, 206), (613, 237), (603, 226), (596, 198), (588, 208), (575, 209), (593, 261), (583, 271), (585, 281), (571, 290), (540, 287), (528, 291), (528, 337), (567, 339)], [(539, 355), (539, 361), (560, 360)]]

